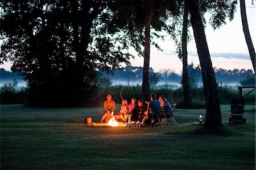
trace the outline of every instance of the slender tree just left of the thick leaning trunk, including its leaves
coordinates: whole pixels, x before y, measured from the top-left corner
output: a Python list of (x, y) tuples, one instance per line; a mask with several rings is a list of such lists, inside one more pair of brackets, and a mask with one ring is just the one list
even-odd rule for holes
[[(214, 29), (219, 28), (222, 24), (225, 24), (225, 19), (229, 18), (229, 20), (233, 19), (234, 11), (236, 10), (236, 0), (204, 0), (200, 1), (200, 9), (202, 13), (202, 17), (204, 17), (205, 13), (210, 14), (210, 24)], [(183, 61), (183, 80), (181, 81), (183, 84), (183, 96), (184, 96), (184, 103), (187, 107), (189, 107), (190, 101), (190, 85), (189, 82), (189, 73), (187, 71), (187, 42), (191, 39), (191, 36), (188, 31), (189, 20), (187, 16), (187, 7), (185, 3), (182, 4), (181, 11), (182, 15), (171, 16), (172, 24), (169, 33), (174, 40), (177, 46), (177, 54), (178, 57)], [(203, 18), (205, 23), (205, 19)], [(175, 25), (175, 27), (174, 27)]]

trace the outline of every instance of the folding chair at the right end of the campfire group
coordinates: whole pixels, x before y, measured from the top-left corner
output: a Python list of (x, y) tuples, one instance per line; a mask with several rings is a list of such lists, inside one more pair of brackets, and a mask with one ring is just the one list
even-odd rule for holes
[(177, 126), (177, 122), (175, 121), (175, 118), (174, 118), (174, 111), (175, 111), (175, 108), (176, 108), (176, 103), (172, 103), (171, 106), (172, 106), (172, 111), (171, 113), (168, 113), (168, 106), (163, 106), (161, 107), (161, 116), (162, 116), (162, 124), (163, 126), (166, 126), (166, 122), (168, 124), (168, 126), (170, 127), (170, 123), (168, 121), (168, 119), (171, 119), (172, 122), (174, 122), (174, 125)]

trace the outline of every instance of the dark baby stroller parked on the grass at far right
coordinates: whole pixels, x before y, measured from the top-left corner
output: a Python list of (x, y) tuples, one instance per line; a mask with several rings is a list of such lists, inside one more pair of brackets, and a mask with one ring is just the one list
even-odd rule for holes
[(245, 99), (242, 97), (234, 97), (231, 99), (231, 109), (229, 123), (246, 123)]

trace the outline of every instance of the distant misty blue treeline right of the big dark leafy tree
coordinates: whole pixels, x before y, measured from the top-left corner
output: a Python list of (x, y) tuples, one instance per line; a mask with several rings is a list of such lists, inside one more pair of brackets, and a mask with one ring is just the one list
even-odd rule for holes
[[(188, 65), (188, 72), (191, 84), (202, 82), (201, 68), (199, 65), (197, 65), (197, 67), (195, 67), (193, 63)], [(251, 69), (247, 71), (245, 69), (233, 69), (232, 71), (214, 68), (214, 72), (217, 82), (255, 85), (255, 76)], [(108, 78), (110, 82), (111, 80), (142, 81), (143, 67), (127, 66), (123, 70), (115, 69), (112, 70), (111, 73), (105, 71), (100, 71), (100, 73), (102, 77)], [(154, 70), (150, 68), (150, 78), (152, 85), (156, 85), (159, 81), (180, 83), (182, 75), (175, 73), (172, 69), (163, 69), (159, 72), (154, 72)]]

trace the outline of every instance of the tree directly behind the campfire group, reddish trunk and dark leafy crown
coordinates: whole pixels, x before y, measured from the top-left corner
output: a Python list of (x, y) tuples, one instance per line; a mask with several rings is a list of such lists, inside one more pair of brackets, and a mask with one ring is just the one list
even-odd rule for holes
[[(144, 56), (142, 98), (149, 99), (150, 89), (150, 45), (155, 45), (151, 38), (162, 38), (158, 34), (166, 28), (168, 13), (179, 14), (181, 1), (113, 1), (110, 10), (113, 13), (113, 23), (125, 33), (126, 45), (131, 44), (139, 56)], [(170, 9), (170, 11), (167, 11)], [(142, 50), (144, 48), (144, 51)]]

